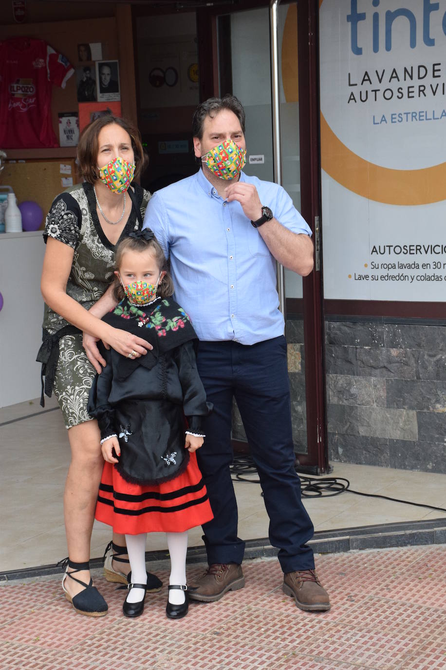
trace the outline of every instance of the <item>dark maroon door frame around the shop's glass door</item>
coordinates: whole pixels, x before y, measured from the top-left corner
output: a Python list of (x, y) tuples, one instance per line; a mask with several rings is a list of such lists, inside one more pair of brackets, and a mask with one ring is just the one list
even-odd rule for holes
[[(285, 0), (280, 6), (288, 4), (290, 1)], [(227, 3), (197, 10), (201, 100), (221, 94), (218, 17), (269, 5), (268, 0), (243, 0), (243, 3), (237, 6)], [(298, 3), (298, 62), (301, 212), (313, 232), (313, 240), (316, 240), (320, 239), (321, 219), (320, 106), (318, 5), (312, 0), (302, 0)], [(328, 450), (320, 249), (317, 254), (315, 250), (314, 261), (314, 271), (303, 278), (303, 299), (286, 299), (286, 311), (288, 314), (304, 317), (308, 453), (297, 456), (302, 466), (322, 474), (328, 471)], [(237, 448), (243, 444), (239, 441), (234, 442)]]

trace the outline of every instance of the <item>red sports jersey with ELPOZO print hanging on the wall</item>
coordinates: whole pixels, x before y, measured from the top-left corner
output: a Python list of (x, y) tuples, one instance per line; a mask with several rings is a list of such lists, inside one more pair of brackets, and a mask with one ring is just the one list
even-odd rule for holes
[(65, 88), (74, 70), (43, 40), (0, 42), (0, 149), (58, 147), (51, 85)]

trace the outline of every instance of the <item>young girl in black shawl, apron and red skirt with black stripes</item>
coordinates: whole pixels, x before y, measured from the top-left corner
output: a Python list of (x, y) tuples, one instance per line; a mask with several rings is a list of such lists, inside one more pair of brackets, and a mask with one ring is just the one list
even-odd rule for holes
[(126, 536), (132, 569), (122, 606), (126, 616), (144, 610), (146, 533), (166, 533), (171, 555), (166, 615), (181, 618), (189, 606), (187, 531), (213, 518), (195, 456), (205, 437), (201, 419), (211, 405), (195, 363), (197, 336), (171, 299), (172, 280), (152, 231), (122, 240), (115, 263), (121, 302), (104, 320), (143, 337), (153, 349), (128, 357), (102, 350), (107, 364), (96, 375), (88, 405), (98, 419), (106, 461), (96, 519)]

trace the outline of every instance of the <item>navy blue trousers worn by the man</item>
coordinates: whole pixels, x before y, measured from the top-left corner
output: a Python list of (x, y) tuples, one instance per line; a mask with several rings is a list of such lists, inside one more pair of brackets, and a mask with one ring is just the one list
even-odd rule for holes
[(279, 549), (284, 572), (314, 568), (306, 545), (314, 528), (300, 496), (294, 469), (290, 382), (284, 336), (247, 346), (200, 342), (198, 370), (214, 409), (205, 420), (205, 443), (197, 458), (214, 519), (203, 525), (209, 563), (241, 563), (245, 543), (237, 537), (237, 502), (229, 466), (231, 410), (235, 397), (257, 467), (269, 541)]

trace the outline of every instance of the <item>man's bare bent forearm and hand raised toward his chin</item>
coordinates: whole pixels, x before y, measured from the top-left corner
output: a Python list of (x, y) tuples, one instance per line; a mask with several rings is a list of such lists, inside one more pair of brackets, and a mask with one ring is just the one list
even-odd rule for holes
[[(228, 202), (237, 200), (250, 221), (261, 217), (262, 205), (253, 184), (231, 184), (226, 189), (226, 198)], [(258, 232), (279, 263), (302, 277), (310, 274), (313, 269), (313, 243), (309, 235), (288, 230), (276, 218), (259, 226)]]

